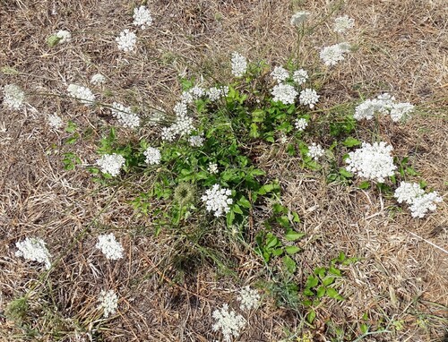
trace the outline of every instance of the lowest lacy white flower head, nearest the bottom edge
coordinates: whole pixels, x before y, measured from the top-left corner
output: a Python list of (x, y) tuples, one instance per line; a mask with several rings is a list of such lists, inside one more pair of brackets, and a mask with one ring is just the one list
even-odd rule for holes
[(244, 317), (229, 309), (228, 304), (223, 304), (220, 309), (216, 309), (212, 316), (215, 319), (213, 331), (221, 330), (226, 342), (229, 342), (232, 337), (237, 338), (240, 330), (246, 325)]

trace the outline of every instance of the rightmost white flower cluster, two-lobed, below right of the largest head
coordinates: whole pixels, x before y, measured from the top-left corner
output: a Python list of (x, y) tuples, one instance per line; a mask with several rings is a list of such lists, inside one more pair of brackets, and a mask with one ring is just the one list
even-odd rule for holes
[(418, 184), (401, 182), (393, 196), (399, 203), (406, 202), (413, 218), (423, 218), (427, 210), (434, 211), (435, 203), (441, 202), (442, 197), (437, 192), (425, 193)]

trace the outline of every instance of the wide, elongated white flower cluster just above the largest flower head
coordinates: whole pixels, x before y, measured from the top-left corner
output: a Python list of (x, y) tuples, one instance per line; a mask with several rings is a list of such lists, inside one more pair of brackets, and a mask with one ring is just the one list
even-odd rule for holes
[(376, 113), (380, 115), (391, 115), (393, 122), (406, 120), (414, 111), (414, 106), (408, 102), (395, 102), (395, 98), (388, 93), (379, 95), (377, 98), (366, 99), (355, 108), (356, 120), (370, 120)]

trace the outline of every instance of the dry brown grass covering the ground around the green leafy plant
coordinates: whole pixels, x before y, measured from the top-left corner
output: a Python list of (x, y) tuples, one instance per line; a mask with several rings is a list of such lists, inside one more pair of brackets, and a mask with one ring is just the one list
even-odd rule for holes
[[(281, 64), (295, 44), (291, 13), (299, 8), (328, 13), (323, 0), (149, 1), (155, 23), (143, 32), (139, 53), (124, 56), (114, 48), (114, 38), (130, 22), (133, 5), (104, 0), (0, 2), (0, 66), (20, 72), (2, 74), (0, 84), (65, 93), (68, 83), (88, 83), (91, 74), (100, 72), (108, 76), (114, 99), (169, 107), (179, 90), (177, 73), (225, 70), (233, 50)], [(323, 94), (328, 103), (352, 100), (358, 98), (358, 85), (366, 96), (389, 90), (425, 106), (425, 115), (404, 126), (388, 125), (384, 133), (397, 153), (412, 156), (428, 186), (442, 194), (448, 184), (447, 7), (444, 0), (356, 0), (344, 5), (339, 13), (357, 23), (349, 37), (358, 42), (358, 51)], [(73, 43), (48, 48), (47, 36), (60, 29), (73, 33)], [(328, 44), (327, 30), (316, 30), (306, 43), (310, 55)], [(108, 113), (90, 113), (60, 98), (32, 97), (30, 103), (22, 112), (0, 109), (0, 312), (36, 286), (39, 300), (31, 301), (30, 310), (30, 328), (42, 334), (36, 340), (57, 340), (51, 335), (55, 321), (61, 322), (59, 330), (67, 331), (65, 341), (87, 341), (98, 327), (110, 341), (212, 340), (211, 312), (233, 300), (233, 289), (263, 278), (263, 265), (232, 249), (229, 259), (240, 265), (240, 283), (222, 277), (207, 262), (174, 283), (177, 273), (166, 256), (177, 248), (191, 251), (176, 236), (148, 234), (151, 219), (134, 215), (126, 204), (126, 189), (99, 188), (83, 167), (67, 172), (62, 166), (62, 153), (73, 149), (84, 165), (94, 162)], [(53, 112), (73, 119), (83, 130), (90, 127), (92, 136), (67, 147), (63, 141), (68, 134), (51, 132), (45, 124), (45, 115)], [(441, 340), (447, 320), (447, 254), (424, 239), (447, 249), (445, 203), (423, 220), (411, 219), (407, 212), (392, 216), (387, 210), (392, 202), (380, 193), (329, 185), (319, 175), (310, 178), (281, 150), (267, 149), (260, 160), (270, 176), (280, 179), (284, 203), (303, 219), (307, 235), (297, 282), (340, 251), (361, 259), (345, 269), (342, 288), (348, 299), (326, 301), (318, 310), (318, 324), (331, 319), (359, 332), (367, 312), (369, 323), (383, 320), (392, 330), (370, 340)], [(94, 248), (96, 236), (106, 229), (124, 245), (124, 260), (106, 261)], [(66, 252), (80, 234), (82, 239)], [(13, 256), (15, 242), (27, 235), (45, 237), (53, 255), (64, 255), (48, 278), (40, 279), (38, 268)], [(94, 302), (103, 288), (116, 289), (121, 301), (116, 318), (100, 324)], [(295, 329), (301, 323), (293, 312), (275, 306), (269, 297), (266, 301), (250, 317), (240, 340), (277, 341), (285, 337), (284, 327)], [(46, 310), (53, 315), (42, 314)], [(402, 321), (403, 328), (392, 329), (393, 321)], [(24, 338), (4, 316), (0, 326), (2, 340)], [(316, 331), (314, 338), (321, 336)]]

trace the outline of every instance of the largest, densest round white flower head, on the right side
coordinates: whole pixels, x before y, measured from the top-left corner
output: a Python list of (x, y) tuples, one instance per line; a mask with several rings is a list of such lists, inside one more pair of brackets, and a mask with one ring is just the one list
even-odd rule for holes
[(397, 168), (393, 165), (392, 150), (392, 146), (383, 141), (363, 142), (361, 148), (349, 152), (346, 168), (360, 177), (383, 183), (384, 178), (394, 175)]

